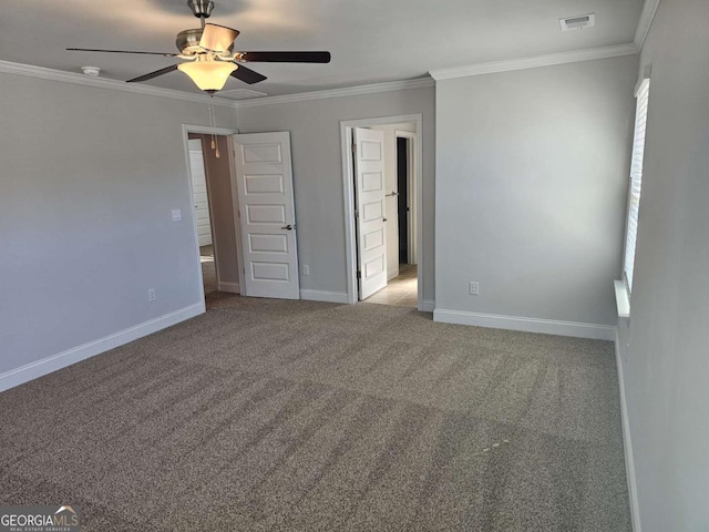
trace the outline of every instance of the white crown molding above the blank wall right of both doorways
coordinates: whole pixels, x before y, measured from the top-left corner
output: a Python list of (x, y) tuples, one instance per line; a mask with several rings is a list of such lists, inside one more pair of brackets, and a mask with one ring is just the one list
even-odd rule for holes
[(635, 45), (635, 43), (628, 43), (619, 44), (616, 47), (590, 48), (574, 52), (562, 52), (552, 53), (548, 55), (536, 55), (533, 58), (512, 59), (508, 61), (471, 64), (469, 66), (458, 66), (453, 69), (432, 70), (429, 73), (435, 81), (451, 80), (454, 78), (466, 78), (471, 75), (493, 74), (513, 70), (537, 69), (540, 66), (576, 63), (579, 61), (593, 61), (596, 59), (620, 58), (623, 55), (635, 55), (638, 52), (639, 50)]

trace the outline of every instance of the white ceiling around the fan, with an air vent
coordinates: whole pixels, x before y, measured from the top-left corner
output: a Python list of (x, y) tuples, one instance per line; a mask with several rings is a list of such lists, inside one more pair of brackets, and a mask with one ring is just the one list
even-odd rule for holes
[[(242, 32), (236, 49), (329, 50), (329, 64), (249, 63), (268, 76), (225, 90), (294, 94), (425, 76), (431, 70), (633, 42), (644, 0), (215, 0), (210, 22)], [(596, 27), (562, 32), (558, 19), (596, 13)], [(68, 52), (106, 48), (176, 52), (198, 28), (186, 0), (3, 2), (0, 60), (127, 80), (172, 64), (150, 55)], [(178, 60), (177, 60), (178, 61)], [(181, 72), (148, 84), (199, 92)]]

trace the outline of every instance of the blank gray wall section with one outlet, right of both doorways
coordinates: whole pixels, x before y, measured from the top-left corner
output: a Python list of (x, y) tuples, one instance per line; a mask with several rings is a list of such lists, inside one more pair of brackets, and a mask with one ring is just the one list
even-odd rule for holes
[(436, 309), (615, 325), (637, 61), (436, 83)]

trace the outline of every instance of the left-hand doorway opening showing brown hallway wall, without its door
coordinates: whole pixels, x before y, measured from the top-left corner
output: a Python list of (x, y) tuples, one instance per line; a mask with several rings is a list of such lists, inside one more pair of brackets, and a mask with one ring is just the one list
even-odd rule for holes
[(226, 131), (227, 134), (213, 134), (191, 130), (186, 131), (186, 150), (195, 238), (203, 297), (206, 308), (210, 308), (224, 298), (240, 294), (232, 140), (230, 132)]

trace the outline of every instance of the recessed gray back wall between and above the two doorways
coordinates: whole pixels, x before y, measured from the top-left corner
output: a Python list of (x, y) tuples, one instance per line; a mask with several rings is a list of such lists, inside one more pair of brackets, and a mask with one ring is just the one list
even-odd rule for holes
[(433, 295), (434, 89), (259, 105), (238, 110), (240, 133), (289, 131), (300, 288), (347, 293), (340, 121), (423, 115), (423, 298)]

